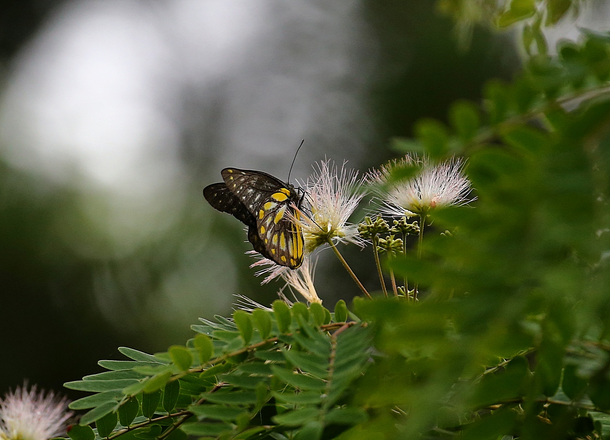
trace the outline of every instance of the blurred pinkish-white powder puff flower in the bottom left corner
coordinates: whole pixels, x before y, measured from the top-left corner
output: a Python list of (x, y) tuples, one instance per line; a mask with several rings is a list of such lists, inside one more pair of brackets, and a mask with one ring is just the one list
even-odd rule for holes
[(28, 390), (27, 384), (0, 400), (0, 438), (3, 440), (47, 440), (65, 434), (72, 416), (68, 400), (52, 392)]

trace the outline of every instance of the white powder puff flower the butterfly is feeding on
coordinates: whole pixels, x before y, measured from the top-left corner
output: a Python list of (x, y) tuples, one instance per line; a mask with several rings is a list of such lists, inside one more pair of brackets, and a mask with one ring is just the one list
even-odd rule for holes
[(329, 240), (334, 243), (361, 244), (356, 225), (348, 219), (364, 197), (364, 179), (358, 172), (339, 169), (331, 160), (323, 160), (314, 166), (314, 173), (303, 184), (310, 215), (300, 210), (300, 216), (290, 216), (303, 229), (307, 252)]

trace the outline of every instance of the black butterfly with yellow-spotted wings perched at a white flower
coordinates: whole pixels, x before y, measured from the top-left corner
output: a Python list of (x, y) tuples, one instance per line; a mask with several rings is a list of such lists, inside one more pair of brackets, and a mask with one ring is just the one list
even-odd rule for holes
[[(248, 226), (248, 241), (263, 257), (296, 269), (303, 263), (303, 231), (287, 213), (300, 218), (303, 196), (290, 183), (262, 171), (225, 168), (224, 182), (212, 183), (203, 195), (212, 208)], [(294, 205), (294, 206), (292, 206)]]

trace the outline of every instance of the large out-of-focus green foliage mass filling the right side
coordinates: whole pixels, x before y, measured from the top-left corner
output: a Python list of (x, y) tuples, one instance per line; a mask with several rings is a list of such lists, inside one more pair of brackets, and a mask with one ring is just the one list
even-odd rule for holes
[(390, 262), (423, 300), (354, 303), (384, 356), (350, 439), (610, 438), (609, 54), (562, 43), (406, 143), (467, 157), (477, 199)]

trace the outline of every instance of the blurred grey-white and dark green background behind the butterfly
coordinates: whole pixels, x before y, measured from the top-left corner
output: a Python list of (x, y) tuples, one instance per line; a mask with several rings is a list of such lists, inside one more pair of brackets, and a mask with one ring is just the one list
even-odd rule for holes
[[(0, 1), (0, 392), (81, 397), (62, 383), (118, 346), (184, 344), (234, 294), (268, 305), (281, 283), (260, 286), (204, 186), (226, 166), (284, 180), (301, 139), (292, 180), (395, 157), (418, 118), (519, 68), (510, 33), (457, 41), (420, 0)], [(345, 256), (378, 289), (370, 252)], [(325, 305), (349, 303), (320, 258)]]

